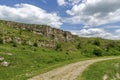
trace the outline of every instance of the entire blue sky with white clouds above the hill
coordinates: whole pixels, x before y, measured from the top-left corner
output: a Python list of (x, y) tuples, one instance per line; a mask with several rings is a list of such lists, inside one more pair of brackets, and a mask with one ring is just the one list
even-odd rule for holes
[(119, 0), (0, 0), (0, 20), (45, 24), (82, 37), (120, 40)]

